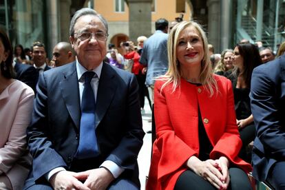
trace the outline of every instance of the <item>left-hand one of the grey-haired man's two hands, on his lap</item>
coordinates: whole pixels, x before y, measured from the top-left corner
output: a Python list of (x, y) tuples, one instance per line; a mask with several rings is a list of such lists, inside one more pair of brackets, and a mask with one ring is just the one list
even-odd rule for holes
[(50, 184), (55, 190), (80, 189), (90, 190), (85, 184), (76, 179), (77, 173), (72, 171), (59, 171), (50, 178)]

